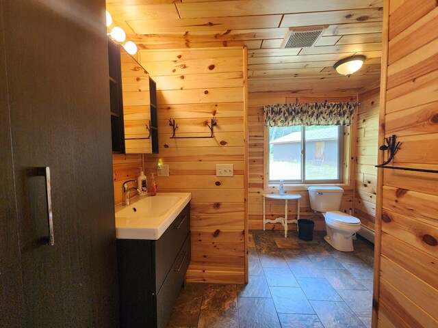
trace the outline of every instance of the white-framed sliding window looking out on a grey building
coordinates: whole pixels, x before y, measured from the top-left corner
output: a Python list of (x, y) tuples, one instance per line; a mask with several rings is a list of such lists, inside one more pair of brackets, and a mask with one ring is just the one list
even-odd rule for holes
[(344, 126), (269, 128), (269, 182), (339, 183)]

